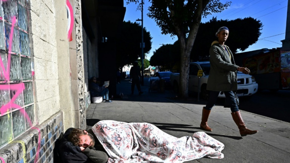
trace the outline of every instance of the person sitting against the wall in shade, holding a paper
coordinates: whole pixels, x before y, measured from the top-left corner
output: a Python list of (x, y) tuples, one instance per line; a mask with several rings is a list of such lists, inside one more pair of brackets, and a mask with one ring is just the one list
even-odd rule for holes
[(112, 102), (109, 99), (109, 89), (107, 86), (100, 86), (97, 78), (93, 76), (89, 81), (89, 91), (91, 97), (103, 97), (103, 102)]

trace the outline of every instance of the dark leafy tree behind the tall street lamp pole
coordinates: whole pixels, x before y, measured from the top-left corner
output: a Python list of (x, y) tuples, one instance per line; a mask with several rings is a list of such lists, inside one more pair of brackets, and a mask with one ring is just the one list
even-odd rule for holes
[[(117, 67), (129, 65), (141, 57), (141, 30), (139, 23), (132, 23), (124, 21), (118, 37), (116, 38), (116, 64)], [(151, 50), (151, 35), (146, 28), (143, 29), (143, 41), (145, 43), (144, 54)]]

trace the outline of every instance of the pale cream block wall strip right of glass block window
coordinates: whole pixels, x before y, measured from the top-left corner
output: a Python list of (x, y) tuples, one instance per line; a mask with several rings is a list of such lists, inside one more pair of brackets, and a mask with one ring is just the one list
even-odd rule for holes
[[(53, 0), (45, 2), (31, 0), (30, 3), (31, 56), (35, 69), (35, 115), (37, 124), (41, 124), (60, 111), (56, 12)], [(65, 7), (63, 10), (66, 11)]]

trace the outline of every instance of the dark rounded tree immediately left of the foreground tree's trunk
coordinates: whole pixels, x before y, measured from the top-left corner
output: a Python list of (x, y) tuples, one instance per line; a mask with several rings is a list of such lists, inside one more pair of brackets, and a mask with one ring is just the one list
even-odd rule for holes
[(150, 65), (158, 66), (160, 71), (172, 70), (174, 65), (180, 60), (179, 49), (178, 42), (160, 46), (153, 52), (150, 58)]

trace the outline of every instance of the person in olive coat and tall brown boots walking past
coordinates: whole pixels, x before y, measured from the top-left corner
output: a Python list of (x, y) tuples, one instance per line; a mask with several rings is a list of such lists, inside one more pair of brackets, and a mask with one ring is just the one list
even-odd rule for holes
[(202, 109), (200, 127), (206, 131), (212, 131), (207, 124), (208, 117), (212, 107), (215, 106), (219, 92), (223, 91), (226, 96), (226, 101), (229, 103), (232, 118), (239, 128), (241, 136), (256, 134), (258, 131), (252, 131), (246, 128), (239, 111), (236, 94), (234, 93), (234, 91), (237, 91), (237, 71), (249, 74), (250, 70), (246, 67), (235, 65), (230, 48), (224, 45), (228, 36), (229, 29), (227, 27), (219, 28), (216, 32), (218, 41), (212, 42), (209, 50), (210, 72), (207, 90), (210, 91), (210, 96), (206, 106)]

